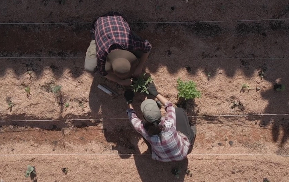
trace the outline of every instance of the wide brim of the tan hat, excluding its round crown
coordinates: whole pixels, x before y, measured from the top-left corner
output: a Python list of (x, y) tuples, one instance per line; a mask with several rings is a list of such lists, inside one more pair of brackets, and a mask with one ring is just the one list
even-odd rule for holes
[(121, 49), (113, 50), (113, 51), (111, 51), (111, 53), (109, 53), (106, 56), (106, 64), (105, 64), (106, 72), (113, 73), (112, 63), (113, 63), (113, 61), (115, 61), (118, 58), (124, 58), (130, 62), (131, 69), (130, 69), (130, 72), (127, 75), (127, 77), (132, 76), (132, 74), (134, 73), (134, 71), (138, 65), (137, 57), (133, 53), (126, 51), (126, 50), (121, 50)]

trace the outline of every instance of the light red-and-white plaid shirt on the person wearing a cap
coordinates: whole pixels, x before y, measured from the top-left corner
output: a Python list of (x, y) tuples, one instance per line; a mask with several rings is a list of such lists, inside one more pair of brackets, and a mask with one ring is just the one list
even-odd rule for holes
[(176, 113), (171, 102), (165, 104), (166, 116), (162, 118), (161, 123), (165, 129), (161, 132), (162, 141), (158, 135), (148, 135), (144, 129), (142, 120), (137, 117), (133, 109), (128, 109), (129, 120), (138, 133), (152, 145), (152, 159), (169, 162), (179, 161), (187, 157), (191, 146), (188, 137), (176, 128)]

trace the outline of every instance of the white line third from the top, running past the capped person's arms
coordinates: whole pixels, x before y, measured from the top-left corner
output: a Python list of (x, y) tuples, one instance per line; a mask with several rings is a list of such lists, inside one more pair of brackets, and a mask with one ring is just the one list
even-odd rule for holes
[[(289, 114), (233, 114), (233, 115), (201, 115), (201, 116), (188, 116), (189, 118), (201, 117), (243, 117), (243, 116), (288, 116)], [(91, 119), (43, 119), (43, 120), (3, 120), (1, 122), (28, 122), (28, 121), (83, 121), (83, 120), (120, 120), (128, 118), (91, 118)], [(142, 118), (140, 118), (142, 119)]]

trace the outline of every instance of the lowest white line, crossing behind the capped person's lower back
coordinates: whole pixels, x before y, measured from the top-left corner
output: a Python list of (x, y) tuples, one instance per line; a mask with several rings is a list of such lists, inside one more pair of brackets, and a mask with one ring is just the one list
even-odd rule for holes
[[(0, 156), (45, 156), (45, 155), (151, 155), (151, 154), (0, 154)], [(219, 155), (219, 156), (278, 156), (278, 157), (288, 157), (287, 154), (188, 154), (188, 155)]]

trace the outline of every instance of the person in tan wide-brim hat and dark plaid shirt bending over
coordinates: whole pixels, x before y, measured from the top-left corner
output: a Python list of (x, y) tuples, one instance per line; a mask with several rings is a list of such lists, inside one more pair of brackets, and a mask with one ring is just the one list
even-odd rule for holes
[(85, 70), (98, 71), (120, 85), (132, 84), (131, 77), (142, 73), (151, 44), (133, 33), (127, 21), (115, 12), (97, 18), (92, 32), (94, 36), (86, 52)]

